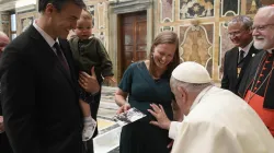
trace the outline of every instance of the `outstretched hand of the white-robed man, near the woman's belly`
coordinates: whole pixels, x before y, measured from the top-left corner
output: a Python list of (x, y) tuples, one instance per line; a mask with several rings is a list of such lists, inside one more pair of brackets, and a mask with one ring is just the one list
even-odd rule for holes
[(150, 123), (160, 127), (161, 129), (169, 130), (171, 121), (167, 117), (162, 105), (159, 105), (159, 107), (156, 104), (150, 104), (150, 106), (153, 110), (148, 109), (148, 111), (157, 119), (157, 121), (150, 121)]

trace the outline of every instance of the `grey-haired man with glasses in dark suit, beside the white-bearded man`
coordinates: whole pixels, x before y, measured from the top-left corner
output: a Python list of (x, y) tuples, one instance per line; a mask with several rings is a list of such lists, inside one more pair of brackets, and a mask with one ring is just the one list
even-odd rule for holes
[(228, 34), (236, 47), (225, 55), (221, 89), (235, 94), (250, 60), (259, 52), (253, 46), (252, 24), (251, 17), (244, 15), (236, 16), (228, 23)]

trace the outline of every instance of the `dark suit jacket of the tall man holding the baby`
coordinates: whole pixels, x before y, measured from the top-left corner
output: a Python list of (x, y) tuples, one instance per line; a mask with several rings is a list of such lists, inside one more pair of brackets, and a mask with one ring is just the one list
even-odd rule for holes
[(4, 126), (15, 153), (81, 153), (82, 113), (72, 55), (70, 74), (34, 26), (7, 46), (0, 62)]

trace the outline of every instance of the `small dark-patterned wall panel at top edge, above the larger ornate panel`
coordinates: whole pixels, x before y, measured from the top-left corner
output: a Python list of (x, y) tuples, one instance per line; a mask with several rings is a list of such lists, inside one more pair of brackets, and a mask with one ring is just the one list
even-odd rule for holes
[(214, 16), (214, 0), (180, 0), (180, 20)]

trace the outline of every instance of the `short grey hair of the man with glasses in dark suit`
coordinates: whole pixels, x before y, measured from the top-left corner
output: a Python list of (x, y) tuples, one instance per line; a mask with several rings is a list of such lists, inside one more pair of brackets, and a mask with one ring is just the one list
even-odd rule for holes
[(239, 15), (235, 16), (231, 21), (229, 21), (228, 25), (235, 23), (242, 23), (244, 30), (251, 30), (253, 25), (253, 20), (250, 16)]

